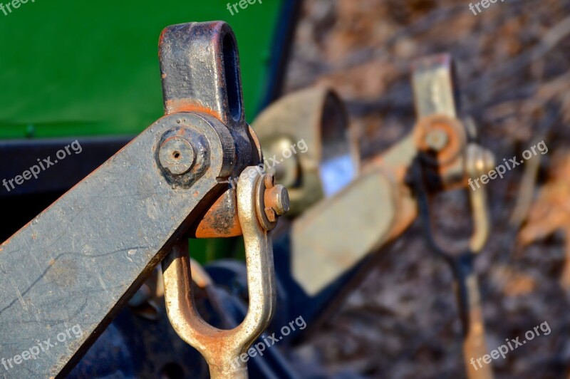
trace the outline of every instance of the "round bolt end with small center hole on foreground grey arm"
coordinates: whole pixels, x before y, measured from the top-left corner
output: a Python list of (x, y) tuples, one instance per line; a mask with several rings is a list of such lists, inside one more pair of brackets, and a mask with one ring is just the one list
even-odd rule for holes
[(158, 151), (160, 165), (172, 175), (184, 175), (194, 165), (196, 155), (194, 148), (185, 137), (170, 137), (165, 140)]

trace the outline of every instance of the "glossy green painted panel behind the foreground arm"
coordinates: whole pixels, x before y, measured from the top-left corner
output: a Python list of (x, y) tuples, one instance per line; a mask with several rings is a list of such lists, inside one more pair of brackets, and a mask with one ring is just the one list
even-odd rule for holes
[[(21, 0), (15, 0), (21, 1)], [(253, 1), (253, 0), (251, 0)], [(28, 0), (0, 9), (0, 138), (136, 135), (162, 115), (160, 31), (227, 21), (237, 36), (247, 118), (265, 95), (281, 1)], [(242, 3), (243, 5), (243, 3)]]

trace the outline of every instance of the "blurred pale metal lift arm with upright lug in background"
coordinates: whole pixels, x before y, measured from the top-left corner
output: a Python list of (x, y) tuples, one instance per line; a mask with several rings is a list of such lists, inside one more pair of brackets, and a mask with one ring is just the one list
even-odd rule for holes
[[(429, 167), (430, 192), (465, 187), (468, 133), (456, 118), (451, 58), (430, 57), (415, 68), (413, 87), (421, 117), (412, 133), (363, 167), (358, 180), (294, 220), (293, 276), (311, 296), (414, 221), (418, 206), (409, 174), (418, 157)], [(359, 203), (362, 209), (355, 205)], [(347, 235), (361, 238), (355, 242)]]

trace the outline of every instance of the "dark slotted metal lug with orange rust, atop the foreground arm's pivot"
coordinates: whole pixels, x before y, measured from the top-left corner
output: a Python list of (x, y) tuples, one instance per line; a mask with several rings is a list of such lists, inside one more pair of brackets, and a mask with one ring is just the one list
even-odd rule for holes
[(237, 178), (244, 167), (261, 162), (261, 155), (257, 137), (245, 121), (239, 53), (232, 29), (222, 21), (165, 28), (160, 36), (160, 71), (165, 113), (212, 115), (234, 140), (234, 151), (224, 152), (224, 159), (234, 162), (233, 170), (220, 175), (227, 190), (192, 226), (195, 237), (239, 236), (235, 190), (229, 180)]

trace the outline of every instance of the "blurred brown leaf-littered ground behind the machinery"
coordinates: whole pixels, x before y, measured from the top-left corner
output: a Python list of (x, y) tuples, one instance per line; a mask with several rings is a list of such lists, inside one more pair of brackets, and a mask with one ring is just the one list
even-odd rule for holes
[[(565, 378), (570, 365), (570, 1), (504, 1), (475, 16), (469, 1), (307, 0), (286, 90), (331, 85), (346, 101), (363, 159), (415, 123), (413, 58), (449, 52), (462, 113), (497, 162), (543, 140), (546, 155), (494, 180), (492, 234), (476, 260), (489, 350), (544, 321), (549, 336), (494, 360), (497, 378)], [(468, 233), (461, 193), (438, 204), (444, 235)], [(460, 378), (460, 321), (448, 266), (416, 222), (331, 321), (300, 349), (331, 373)]]

